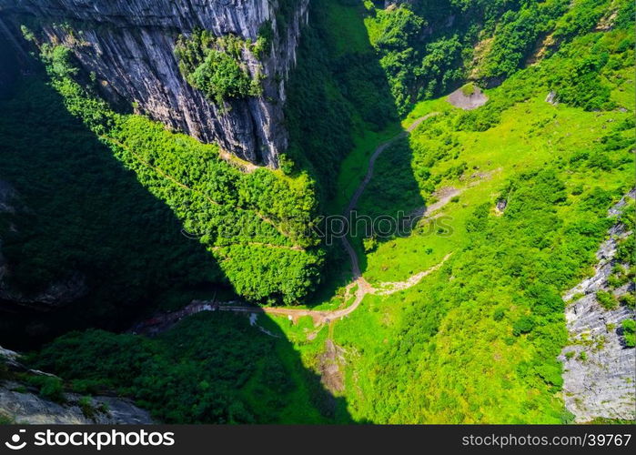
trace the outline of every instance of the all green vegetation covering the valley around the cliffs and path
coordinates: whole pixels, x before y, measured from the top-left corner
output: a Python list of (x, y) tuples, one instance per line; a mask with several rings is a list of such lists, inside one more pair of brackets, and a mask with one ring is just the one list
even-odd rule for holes
[[(42, 66), (0, 100), (0, 183), (33, 209), (0, 213), (2, 253), (25, 291), (81, 270), (97, 289), (80, 300), (90, 317), (54, 332), (101, 328), (31, 352), (61, 378), (32, 385), (54, 399), (117, 393), (171, 423), (573, 422), (563, 295), (591, 276), (608, 229), (634, 226), (631, 199), (608, 212), (633, 187), (633, 17), (629, 0), (312, 0), (287, 81), (288, 150), (279, 169), (250, 171), (108, 104), (69, 48), (25, 29)], [(254, 43), (177, 36), (182, 76), (219, 106), (259, 96), (240, 56), (267, 52), (268, 27)], [(447, 97), (478, 88), (475, 109)], [(350, 237), (375, 290), (347, 317), (218, 311), (153, 338), (96, 322), (211, 294), (347, 308), (348, 252), (315, 227), (348, 207), (381, 145), (356, 208), (419, 221)], [(633, 313), (632, 290), (619, 292), (633, 234), (616, 242), (596, 298)], [(633, 349), (633, 319), (613, 330)]]

